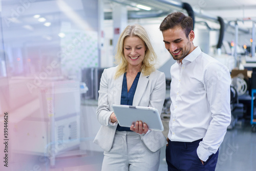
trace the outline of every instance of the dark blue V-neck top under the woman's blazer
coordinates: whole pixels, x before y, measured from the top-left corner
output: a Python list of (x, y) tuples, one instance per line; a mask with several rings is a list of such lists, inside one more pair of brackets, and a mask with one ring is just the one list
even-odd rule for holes
[[(122, 93), (121, 93), (121, 103), (120, 104), (133, 105), (133, 98), (134, 98), (134, 94), (135, 94), (135, 91), (136, 91), (136, 88), (137, 88), (139, 77), (140, 77), (140, 72), (138, 72), (136, 78), (133, 81), (133, 84), (132, 84), (129, 92), (127, 92), (126, 73), (124, 73), (124, 75), (123, 75)], [(130, 127), (123, 127), (123, 126), (120, 126), (119, 124), (117, 125), (117, 129), (116, 130), (117, 131), (131, 131)]]

